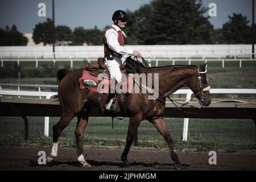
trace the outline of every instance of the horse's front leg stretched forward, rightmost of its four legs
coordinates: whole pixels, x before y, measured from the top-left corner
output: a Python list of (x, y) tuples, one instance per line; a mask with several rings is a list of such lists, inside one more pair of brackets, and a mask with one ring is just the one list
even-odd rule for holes
[(180, 164), (180, 160), (174, 148), (174, 143), (172, 142), (171, 135), (167, 130), (166, 123), (164, 123), (163, 118), (154, 119), (151, 121), (151, 123), (153, 123), (153, 125), (156, 127), (159, 133), (162, 134), (163, 138), (166, 140), (172, 160), (174, 160), (176, 164)]

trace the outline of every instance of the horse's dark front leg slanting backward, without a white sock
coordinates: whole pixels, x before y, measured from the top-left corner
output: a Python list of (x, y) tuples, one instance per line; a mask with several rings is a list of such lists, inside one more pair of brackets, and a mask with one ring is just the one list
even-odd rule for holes
[(138, 129), (140, 122), (141, 122), (141, 117), (139, 117), (139, 115), (130, 118), (129, 128), (128, 128), (127, 137), (126, 137), (125, 150), (123, 150), (123, 154), (121, 156), (121, 160), (125, 165), (125, 167), (129, 166), (129, 163), (127, 162), (127, 155), (129, 153), (131, 144), (133, 143), (134, 135)]

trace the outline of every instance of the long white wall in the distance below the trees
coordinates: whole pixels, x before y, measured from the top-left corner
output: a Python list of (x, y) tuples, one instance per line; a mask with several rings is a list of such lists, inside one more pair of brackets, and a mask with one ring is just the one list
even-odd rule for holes
[[(251, 55), (250, 44), (199, 44), (199, 45), (127, 45), (127, 48), (138, 50), (143, 57), (244, 57)], [(256, 48), (255, 48), (256, 49)], [(254, 51), (255, 52), (255, 51)], [(102, 57), (104, 46), (56, 46), (56, 58), (63, 57)], [(2, 46), (3, 57), (52, 58), (51, 46)]]

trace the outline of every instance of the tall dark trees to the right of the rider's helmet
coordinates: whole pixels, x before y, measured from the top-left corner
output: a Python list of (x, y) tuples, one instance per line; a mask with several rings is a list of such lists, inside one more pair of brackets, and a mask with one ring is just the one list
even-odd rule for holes
[(251, 44), (253, 29), (242, 14), (229, 15), (222, 28), (214, 29), (201, 1), (155, 0), (128, 11), (130, 44)]

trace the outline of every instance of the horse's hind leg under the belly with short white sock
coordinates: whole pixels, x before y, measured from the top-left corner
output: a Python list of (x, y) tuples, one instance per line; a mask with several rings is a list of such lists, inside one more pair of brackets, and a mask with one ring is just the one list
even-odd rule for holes
[(85, 161), (84, 154), (82, 152), (82, 138), (84, 137), (84, 130), (88, 123), (88, 117), (88, 113), (79, 113), (77, 116), (77, 125), (75, 130), (77, 160), (82, 164), (82, 167), (90, 167), (90, 164)]

